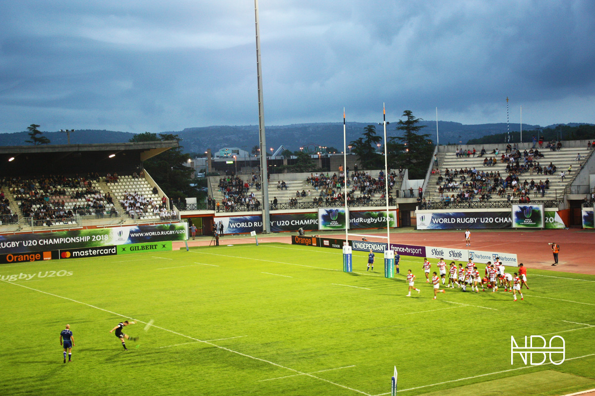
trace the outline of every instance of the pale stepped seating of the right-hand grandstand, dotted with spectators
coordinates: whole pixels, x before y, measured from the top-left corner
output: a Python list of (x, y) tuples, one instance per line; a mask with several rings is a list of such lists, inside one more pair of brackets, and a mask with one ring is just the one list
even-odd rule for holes
[[(465, 150), (467, 149), (465, 148)], [(524, 162), (524, 150), (525, 148), (521, 148), (520, 164)], [(526, 150), (529, 151), (529, 148)], [(465, 183), (472, 183), (472, 173), (466, 172), (472, 172), (475, 169), (477, 175), (481, 176), (481, 173), (487, 173), (487, 176), (481, 177), (482, 180), (477, 180), (480, 184), (483, 184), (483, 189), (478, 191), (476, 187), (475, 198), (473, 199), (474, 202), (484, 202), (486, 204), (485, 207), (505, 207), (511, 202), (519, 202), (521, 196), (528, 197), (531, 202), (547, 202), (553, 206), (558, 206), (559, 202), (563, 200), (564, 195), (569, 194), (569, 186), (577, 176), (578, 171), (587, 162), (593, 150), (587, 150), (586, 147), (562, 147), (560, 150), (552, 151), (544, 147), (542, 150), (539, 150), (539, 153), (543, 154), (543, 157), (535, 157), (533, 163), (536, 165), (539, 163), (543, 169), (543, 173), (538, 174), (536, 170), (533, 172), (530, 172), (530, 170), (512, 172), (518, 175), (518, 182), (515, 183), (516, 186), (522, 187), (527, 182), (527, 192), (523, 194), (520, 187), (517, 192), (513, 190), (512, 180), (506, 183), (506, 188), (504, 188), (502, 183), (511, 174), (506, 169), (507, 164), (510, 162), (503, 158), (509, 156), (510, 151), (505, 153), (505, 151), (499, 150), (496, 154), (494, 153), (494, 149), (492, 149), (491, 151), (487, 151), (483, 156), (480, 155), (481, 151), (477, 151), (475, 156), (467, 156), (466, 154), (460, 156), (455, 152), (440, 152), (439, 150), (437, 154), (438, 167), (434, 166), (434, 164), (432, 165), (433, 172), (428, 179), (424, 197), (428, 205), (433, 205), (434, 208), (452, 206), (452, 200), (449, 202), (446, 198), (447, 196), (452, 197), (452, 195), (455, 195), (455, 202), (468, 202), (468, 198), (465, 199), (465, 197), (457, 199), (457, 194), (461, 192), (465, 194), (467, 190), (474, 190), (473, 188), (466, 188)], [(578, 154), (580, 154), (580, 160), (577, 160)], [(489, 161), (494, 159), (496, 161), (489, 164)], [(485, 161), (488, 161), (488, 163), (484, 164)], [(555, 166), (555, 171), (552, 174), (546, 174), (546, 167), (550, 163)], [(568, 172), (570, 166), (572, 166), (572, 170)], [(437, 169), (439, 172), (436, 171)], [(447, 170), (449, 170), (450, 176), (453, 176), (452, 182), (456, 183), (450, 189), (447, 186), (449, 184), (449, 179), (446, 175)], [(455, 171), (456, 176), (454, 176)], [(565, 173), (565, 178), (561, 178), (560, 172)], [(498, 173), (501, 179), (499, 182), (494, 182)], [(464, 176), (464, 179), (461, 176)], [(546, 183), (546, 179), (549, 180), (549, 183)], [(541, 192), (537, 188), (531, 188), (531, 180), (536, 185), (540, 181), (544, 182), (546, 184), (545, 191)], [(490, 186), (491, 190), (487, 193)], [(440, 191), (440, 188), (443, 191)], [(500, 188), (503, 188), (503, 191)], [(500, 195), (498, 194), (499, 191)], [(510, 199), (508, 197), (509, 195)]]

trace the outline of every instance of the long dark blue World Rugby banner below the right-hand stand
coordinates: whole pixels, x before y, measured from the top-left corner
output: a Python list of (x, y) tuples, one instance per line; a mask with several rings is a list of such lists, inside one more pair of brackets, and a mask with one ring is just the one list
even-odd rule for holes
[[(543, 213), (543, 211), (542, 211)], [(511, 228), (510, 211), (416, 212), (418, 230)]]

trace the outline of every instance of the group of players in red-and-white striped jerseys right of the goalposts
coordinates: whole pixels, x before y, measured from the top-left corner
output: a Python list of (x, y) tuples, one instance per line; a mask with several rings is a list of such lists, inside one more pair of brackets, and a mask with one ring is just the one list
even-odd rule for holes
[[(445, 293), (444, 290), (440, 289), (440, 281), (443, 285), (447, 285), (449, 289), (460, 288), (463, 292), (467, 292), (467, 287), (471, 287), (471, 292), (479, 293), (479, 288), (485, 291), (491, 289), (492, 293), (497, 292), (499, 287), (504, 287), (504, 291), (508, 292), (510, 289), (514, 301), (516, 301), (516, 294), (520, 294), (521, 300), (523, 299), (521, 293), (521, 287), (525, 285), (527, 289), (527, 268), (521, 263), (519, 264), (518, 273), (507, 273), (504, 264), (500, 261), (499, 257), (496, 257), (494, 262), (488, 261), (486, 264), (486, 272), (484, 277), (481, 276), (477, 266), (474, 262), (469, 259), (469, 262), (463, 267), (463, 264), (456, 266), (455, 262), (450, 262), (450, 268), (446, 268), (447, 264), (444, 262), (444, 258), (440, 258), (437, 263), (438, 273), (433, 272), (433, 276), (430, 277), (431, 264), (427, 258), (424, 258), (424, 264), (422, 268), (425, 274), (425, 283), (431, 283), (434, 286), (434, 300), (436, 300), (438, 293)], [(448, 278), (446, 274), (449, 274)], [(407, 297), (411, 297), (411, 291), (415, 290), (418, 293), (421, 291), (417, 289), (415, 284), (415, 275), (411, 270), (408, 270), (407, 281), (409, 283), (409, 294)]]

